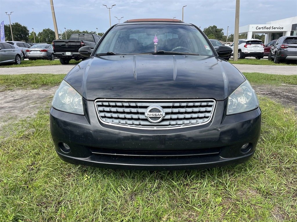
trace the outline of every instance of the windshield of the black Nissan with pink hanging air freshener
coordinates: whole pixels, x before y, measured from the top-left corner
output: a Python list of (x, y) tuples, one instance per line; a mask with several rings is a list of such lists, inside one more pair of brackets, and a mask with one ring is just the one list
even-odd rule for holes
[(204, 36), (194, 26), (162, 23), (115, 26), (104, 37), (96, 54), (140, 54), (158, 51), (164, 54), (179, 52), (214, 55)]

